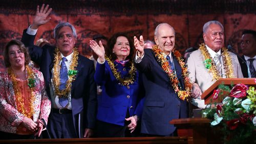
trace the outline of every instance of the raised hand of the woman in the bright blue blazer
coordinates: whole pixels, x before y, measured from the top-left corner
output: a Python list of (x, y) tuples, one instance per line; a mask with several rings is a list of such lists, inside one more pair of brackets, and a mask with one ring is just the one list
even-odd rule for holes
[(103, 62), (105, 57), (105, 49), (101, 41), (99, 41), (99, 45), (94, 40), (91, 40), (89, 43), (92, 50), (98, 55), (98, 59), (102, 60), (101, 62)]

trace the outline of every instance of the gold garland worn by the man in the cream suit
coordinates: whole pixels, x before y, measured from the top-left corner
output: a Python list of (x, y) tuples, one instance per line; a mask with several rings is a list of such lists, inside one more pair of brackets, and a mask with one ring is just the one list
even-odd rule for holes
[[(204, 56), (205, 60), (209, 60), (208, 63), (205, 63), (205, 67), (207, 69), (209, 69), (209, 72), (212, 73), (213, 75), (213, 79), (212, 80), (218, 80), (220, 78), (222, 78), (218, 72), (217, 72), (217, 68), (216, 65), (214, 63), (214, 61), (212, 60), (212, 57), (210, 56), (210, 53), (208, 52), (206, 46), (204, 43), (202, 43), (199, 47), (202, 55)], [(224, 66), (224, 70), (225, 70), (225, 74), (227, 78), (233, 78), (233, 68), (232, 68), (232, 62), (231, 62), (231, 57), (227, 51), (227, 49), (225, 47), (221, 48), (221, 52), (222, 52), (222, 57), (223, 57), (223, 66)], [(209, 66), (210, 65), (210, 66)]]

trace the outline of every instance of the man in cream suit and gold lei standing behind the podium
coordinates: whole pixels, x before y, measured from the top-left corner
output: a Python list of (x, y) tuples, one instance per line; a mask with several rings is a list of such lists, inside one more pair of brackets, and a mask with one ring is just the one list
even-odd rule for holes
[(205, 108), (202, 93), (219, 78), (242, 78), (237, 56), (224, 47), (224, 28), (219, 21), (208, 21), (203, 26), (204, 43), (188, 55), (187, 67), (192, 86), (191, 103)]

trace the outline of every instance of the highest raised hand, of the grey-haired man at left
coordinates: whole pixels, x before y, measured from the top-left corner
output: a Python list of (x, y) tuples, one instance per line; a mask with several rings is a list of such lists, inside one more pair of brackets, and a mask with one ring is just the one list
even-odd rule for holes
[(39, 6), (37, 6), (31, 28), (37, 29), (40, 25), (46, 24), (51, 19), (51, 17), (48, 17), (51, 11), (52, 11), (52, 8), (49, 9), (49, 5), (45, 7), (45, 4), (42, 4), (42, 7), (40, 10), (39, 10)]

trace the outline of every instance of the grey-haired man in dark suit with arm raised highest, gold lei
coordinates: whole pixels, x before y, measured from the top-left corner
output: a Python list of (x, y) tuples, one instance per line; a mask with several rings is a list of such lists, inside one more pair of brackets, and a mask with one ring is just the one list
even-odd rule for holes
[(96, 83), (93, 61), (81, 56), (77, 48), (76, 31), (68, 22), (54, 28), (57, 47), (33, 44), (37, 29), (47, 23), (52, 9), (49, 5), (39, 10), (32, 25), (24, 30), (22, 41), (29, 47), (32, 61), (40, 66), (47, 93), (52, 102), (48, 129), (53, 138), (90, 137), (96, 118)]

